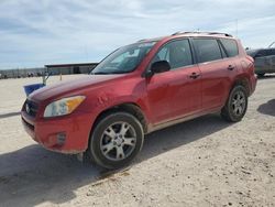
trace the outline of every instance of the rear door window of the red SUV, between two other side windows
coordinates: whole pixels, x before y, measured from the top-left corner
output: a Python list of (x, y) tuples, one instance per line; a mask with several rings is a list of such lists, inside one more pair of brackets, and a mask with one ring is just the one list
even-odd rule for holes
[(194, 39), (197, 48), (198, 62), (205, 63), (221, 59), (221, 51), (215, 39)]

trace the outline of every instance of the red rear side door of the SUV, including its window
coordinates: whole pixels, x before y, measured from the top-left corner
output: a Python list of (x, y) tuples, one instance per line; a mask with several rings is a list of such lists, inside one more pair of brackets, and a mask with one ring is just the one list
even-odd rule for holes
[(230, 77), (237, 73), (237, 65), (228, 58), (217, 39), (196, 37), (194, 45), (201, 72), (202, 110), (222, 107), (231, 87)]

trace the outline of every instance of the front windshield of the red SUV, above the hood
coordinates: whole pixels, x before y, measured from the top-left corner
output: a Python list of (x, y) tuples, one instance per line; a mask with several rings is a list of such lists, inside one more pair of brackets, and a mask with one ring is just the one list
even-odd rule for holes
[(107, 56), (91, 74), (125, 74), (133, 72), (156, 42), (123, 46)]

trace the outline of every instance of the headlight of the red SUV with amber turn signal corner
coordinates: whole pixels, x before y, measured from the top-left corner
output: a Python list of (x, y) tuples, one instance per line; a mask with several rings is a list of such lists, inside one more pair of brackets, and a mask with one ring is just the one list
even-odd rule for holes
[(85, 96), (74, 96), (51, 102), (44, 111), (44, 117), (69, 115), (84, 101), (84, 99)]

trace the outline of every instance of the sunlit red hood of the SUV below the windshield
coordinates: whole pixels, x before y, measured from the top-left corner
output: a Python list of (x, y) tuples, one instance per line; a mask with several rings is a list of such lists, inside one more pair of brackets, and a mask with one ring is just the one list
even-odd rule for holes
[(45, 86), (32, 92), (29, 98), (34, 101), (42, 101), (48, 98), (55, 98), (57, 96), (66, 95), (75, 90), (81, 90), (90, 86), (96, 86), (107, 80), (117, 79), (121, 76), (123, 75), (87, 75), (81, 78)]

